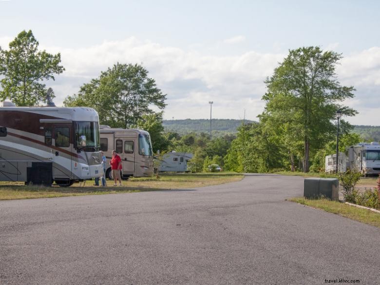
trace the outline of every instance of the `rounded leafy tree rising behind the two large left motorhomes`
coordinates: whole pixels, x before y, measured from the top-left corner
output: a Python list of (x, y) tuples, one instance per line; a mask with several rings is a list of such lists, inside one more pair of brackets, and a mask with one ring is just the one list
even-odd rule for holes
[(93, 107), (101, 123), (129, 128), (143, 115), (153, 114), (152, 106), (164, 109), (165, 99), (166, 95), (143, 66), (117, 63), (84, 84), (77, 95), (66, 97), (63, 103)]

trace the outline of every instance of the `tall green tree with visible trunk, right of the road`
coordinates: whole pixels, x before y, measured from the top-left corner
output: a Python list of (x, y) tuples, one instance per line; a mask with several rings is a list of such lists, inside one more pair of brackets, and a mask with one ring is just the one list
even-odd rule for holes
[[(334, 132), (334, 119), (338, 109), (353, 116), (357, 112), (339, 104), (352, 98), (352, 86), (341, 86), (335, 66), (341, 54), (319, 47), (303, 47), (289, 51), (289, 55), (266, 79), (267, 93), (263, 96), (266, 108), (261, 115), (266, 120), (282, 117), (282, 123), (293, 122), (286, 133), (295, 134), (295, 140), (303, 141), (304, 171), (309, 171), (310, 151), (321, 148)], [(350, 125), (345, 123), (347, 128)], [(289, 144), (289, 148), (298, 143)]]

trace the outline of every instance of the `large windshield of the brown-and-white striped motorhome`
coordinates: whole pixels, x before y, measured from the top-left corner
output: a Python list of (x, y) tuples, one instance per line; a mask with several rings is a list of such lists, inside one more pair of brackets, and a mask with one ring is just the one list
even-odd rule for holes
[(100, 131), (98, 122), (74, 122), (76, 146), (79, 148), (100, 149)]

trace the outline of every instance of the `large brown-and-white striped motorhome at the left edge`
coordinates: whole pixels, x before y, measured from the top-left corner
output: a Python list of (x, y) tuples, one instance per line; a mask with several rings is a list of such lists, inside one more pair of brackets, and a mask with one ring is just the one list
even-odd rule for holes
[(70, 186), (103, 174), (94, 109), (3, 106), (1, 181)]

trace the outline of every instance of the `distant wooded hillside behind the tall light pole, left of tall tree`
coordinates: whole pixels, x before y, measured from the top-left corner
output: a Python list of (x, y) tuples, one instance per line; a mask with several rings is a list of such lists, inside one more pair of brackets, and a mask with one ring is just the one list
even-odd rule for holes
[[(245, 120), (245, 123), (253, 121)], [(212, 119), (212, 134), (223, 135), (226, 133), (237, 133), (237, 128), (243, 123), (242, 120), (232, 119)], [(179, 134), (186, 133), (209, 133), (210, 120), (207, 119), (186, 119), (186, 120), (164, 120), (162, 125), (167, 132), (176, 132)]]

